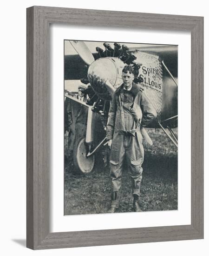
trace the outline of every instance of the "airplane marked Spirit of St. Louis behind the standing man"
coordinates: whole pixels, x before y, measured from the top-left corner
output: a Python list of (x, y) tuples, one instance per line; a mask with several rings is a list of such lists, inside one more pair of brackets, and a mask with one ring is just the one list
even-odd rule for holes
[[(177, 46), (127, 47), (118, 42), (104, 42), (104, 49), (96, 47), (96, 52), (91, 53), (84, 41), (65, 40), (65, 43), (69, 43), (77, 53), (65, 54), (65, 97), (88, 108), (85, 138), (75, 141), (73, 150), (73, 163), (80, 173), (92, 171), (95, 153), (107, 144), (105, 130), (111, 98), (123, 83), (122, 69), (125, 65), (134, 68), (134, 82), (156, 108), (157, 118), (146, 128), (161, 128), (177, 147), (177, 137), (172, 130), (177, 127)], [(72, 90), (72, 84), (80, 82), (87, 86), (86, 102), (79, 101), (77, 92)], [(152, 145), (144, 128), (141, 128), (141, 133)]]

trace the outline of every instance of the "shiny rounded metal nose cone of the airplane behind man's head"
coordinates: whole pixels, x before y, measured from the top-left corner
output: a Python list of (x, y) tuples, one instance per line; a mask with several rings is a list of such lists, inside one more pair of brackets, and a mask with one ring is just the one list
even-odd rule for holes
[(118, 58), (100, 58), (91, 63), (88, 79), (92, 89), (104, 101), (110, 101), (112, 93), (122, 83), (124, 62)]

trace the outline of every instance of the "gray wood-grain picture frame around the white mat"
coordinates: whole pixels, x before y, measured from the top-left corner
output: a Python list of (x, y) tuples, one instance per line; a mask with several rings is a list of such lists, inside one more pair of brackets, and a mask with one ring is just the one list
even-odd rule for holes
[[(50, 23), (191, 32), (191, 225), (49, 232)], [(26, 226), (26, 246), (31, 249), (203, 238), (203, 17), (58, 7), (27, 8)]]

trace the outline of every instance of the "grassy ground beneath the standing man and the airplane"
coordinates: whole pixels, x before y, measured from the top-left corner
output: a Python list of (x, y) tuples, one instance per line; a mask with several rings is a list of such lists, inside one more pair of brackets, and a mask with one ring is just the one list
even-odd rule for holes
[[(157, 129), (147, 129), (153, 146), (144, 143), (141, 208), (143, 211), (177, 209), (177, 149)], [(177, 130), (176, 130), (177, 132)], [(68, 154), (67, 137), (65, 153)], [(72, 163), (65, 156), (65, 215), (106, 213), (111, 201), (110, 169), (97, 160), (94, 170), (87, 176), (73, 172)], [(131, 180), (123, 173), (123, 188), (118, 212), (131, 212), (133, 197)]]

